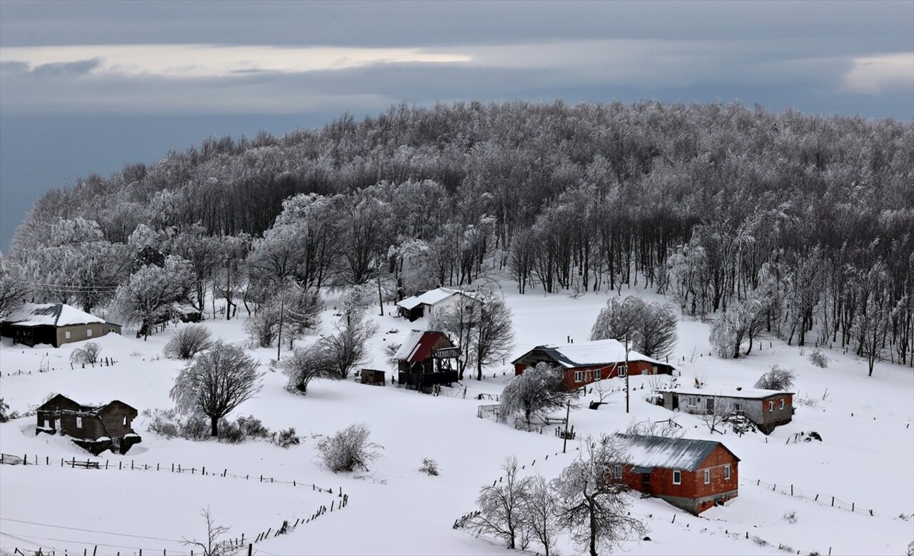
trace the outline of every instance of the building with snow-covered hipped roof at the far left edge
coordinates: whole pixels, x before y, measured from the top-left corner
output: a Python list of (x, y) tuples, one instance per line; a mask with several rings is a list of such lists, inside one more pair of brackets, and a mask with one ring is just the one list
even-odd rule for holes
[(109, 332), (121, 333), (121, 325), (64, 303), (26, 303), (0, 323), (0, 333), (13, 343), (34, 346), (49, 343), (55, 348), (70, 341), (91, 340)]

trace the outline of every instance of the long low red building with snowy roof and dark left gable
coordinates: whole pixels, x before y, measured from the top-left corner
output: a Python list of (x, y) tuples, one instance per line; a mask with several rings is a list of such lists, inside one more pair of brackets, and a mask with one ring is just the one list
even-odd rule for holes
[(617, 340), (581, 341), (537, 346), (513, 362), (515, 374), (548, 362), (565, 369), (565, 383), (569, 389), (579, 388), (594, 381), (629, 374), (672, 374), (673, 365), (659, 362), (637, 351), (629, 351), (625, 364), (625, 345)]

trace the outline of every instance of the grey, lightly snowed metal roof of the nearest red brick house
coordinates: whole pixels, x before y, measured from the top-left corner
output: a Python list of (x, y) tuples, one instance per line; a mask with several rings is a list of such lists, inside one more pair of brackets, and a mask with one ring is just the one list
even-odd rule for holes
[[(639, 467), (695, 471), (714, 448), (723, 446), (715, 440), (622, 434), (618, 436), (624, 440), (628, 463)], [(729, 452), (727, 446), (724, 446), (724, 449)], [(734, 457), (739, 461), (739, 457)]]

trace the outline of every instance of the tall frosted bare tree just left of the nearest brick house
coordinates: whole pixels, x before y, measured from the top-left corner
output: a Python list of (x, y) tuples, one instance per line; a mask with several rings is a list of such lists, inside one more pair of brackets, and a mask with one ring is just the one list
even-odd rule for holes
[(613, 467), (626, 462), (622, 441), (609, 435), (588, 436), (574, 462), (554, 481), (558, 494), (558, 523), (571, 539), (587, 547), (590, 556), (611, 551), (644, 525), (628, 513), (631, 498)]

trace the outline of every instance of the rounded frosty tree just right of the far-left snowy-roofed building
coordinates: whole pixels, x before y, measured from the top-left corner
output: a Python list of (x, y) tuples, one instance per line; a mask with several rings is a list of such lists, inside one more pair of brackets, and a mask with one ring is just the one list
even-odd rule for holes
[(117, 288), (112, 309), (125, 323), (138, 324), (138, 336), (149, 337), (152, 326), (162, 322), (169, 309), (187, 299), (194, 285), (190, 264), (181, 257), (165, 257), (162, 267), (145, 265)]

